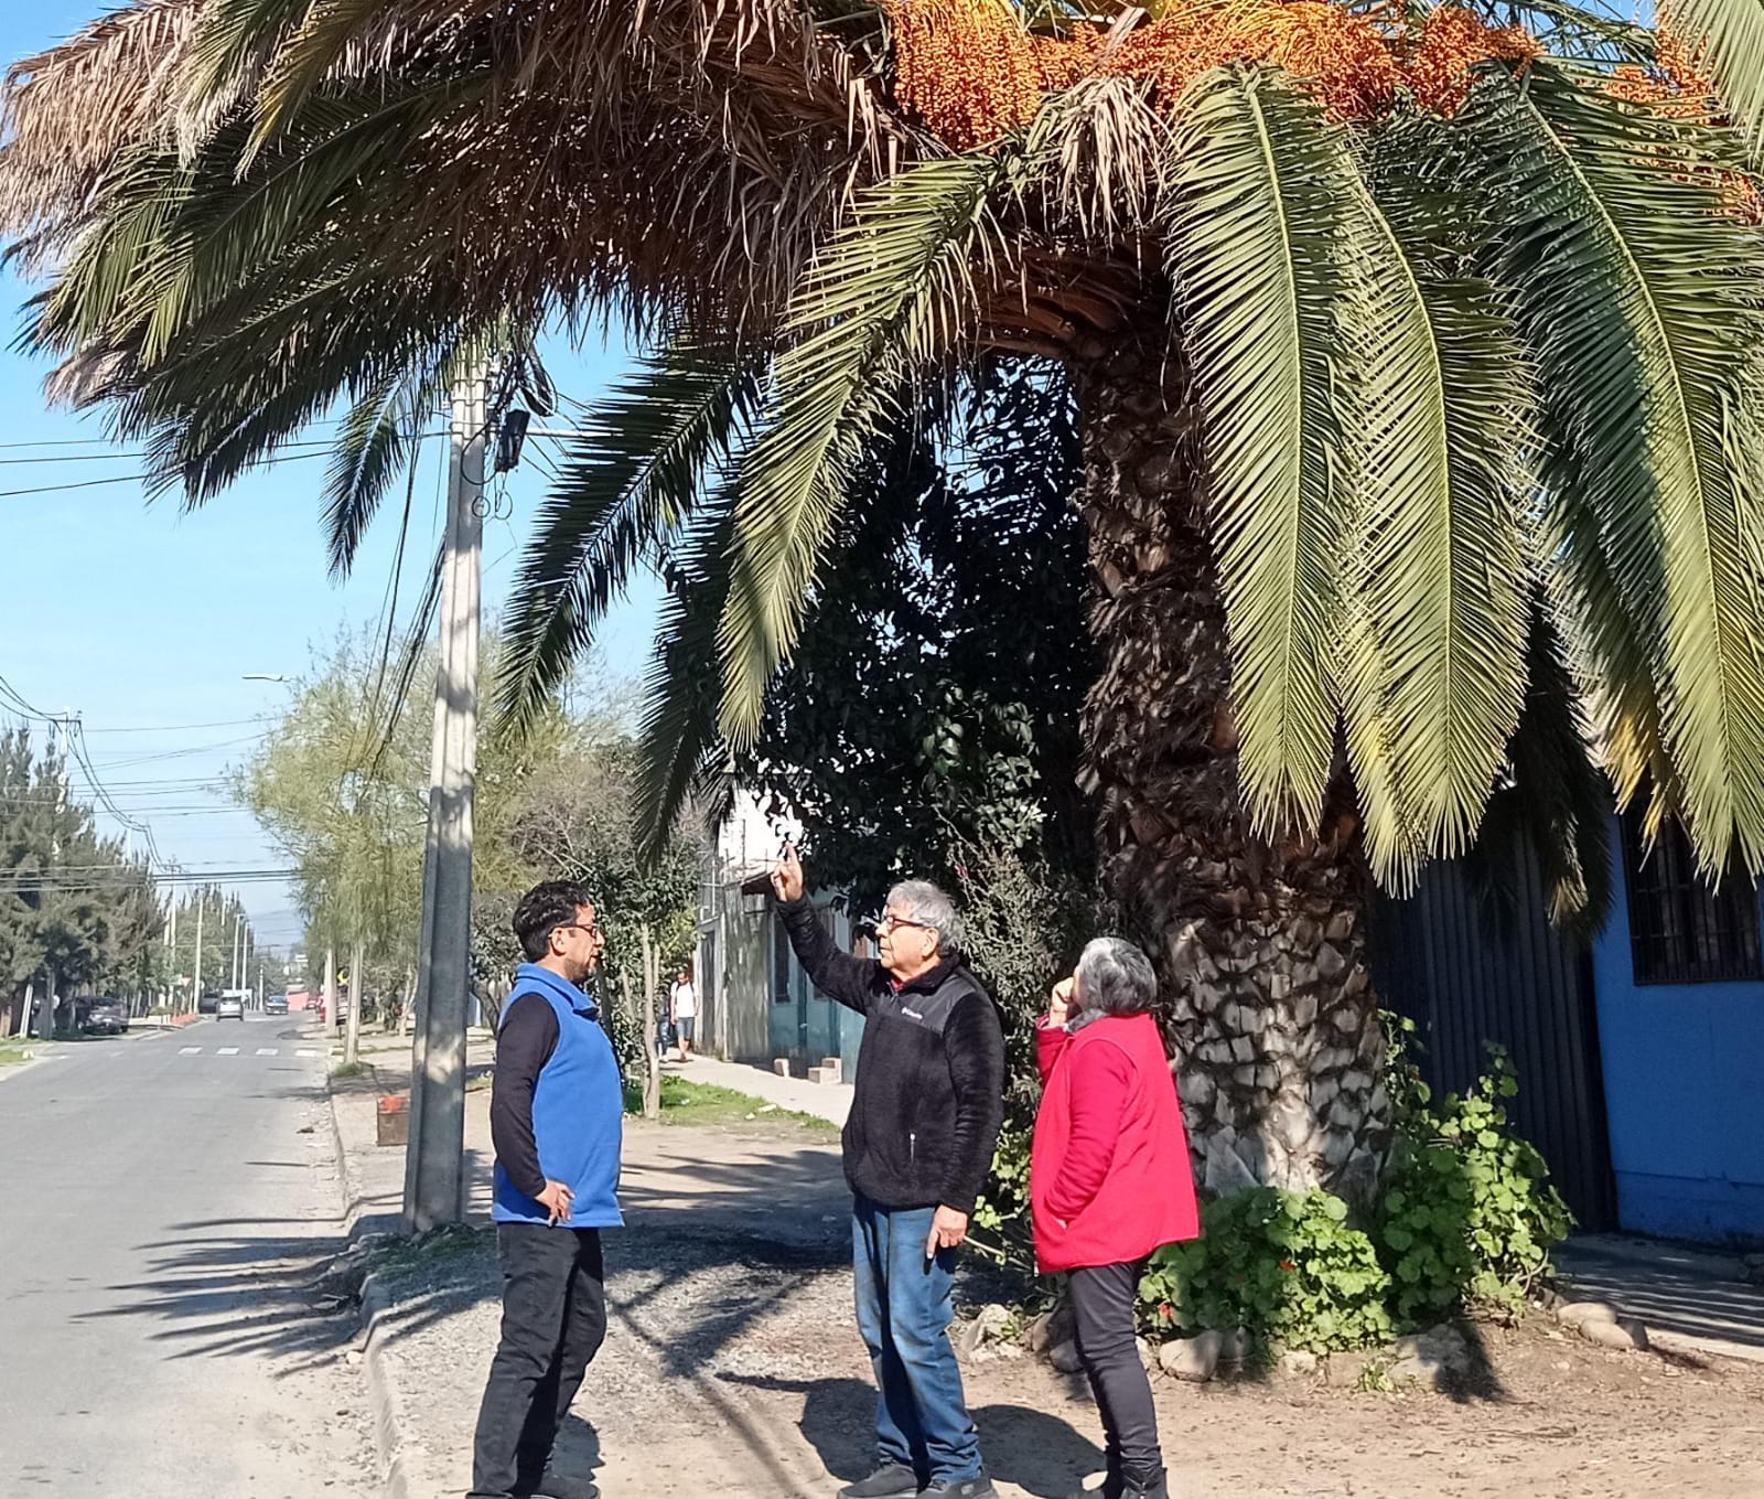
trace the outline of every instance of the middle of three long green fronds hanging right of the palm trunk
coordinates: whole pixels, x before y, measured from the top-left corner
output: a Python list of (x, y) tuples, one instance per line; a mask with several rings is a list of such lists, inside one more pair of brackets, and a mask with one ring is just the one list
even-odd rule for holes
[[(1404, 157), (1416, 139), (1402, 145)], [(1364, 212), (1371, 258), (1358, 268), (1369, 346), (1351, 365), (1349, 484), (1364, 521), (1358, 611), (1376, 639), (1381, 752), (1355, 773), (1401, 810), (1369, 825), (1383, 879), (1404, 856), (1401, 826), (1425, 855), (1475, 839), (1524, 687), (1522, 523), (1536, 489), (1529, 461), (1528, 360), (1503, 304), (1443, 247), (1464, 205), (1418, 185), (1413, 159), (1374, 171)], [(1349, 655), (1349, 660), (1365, 657)], [(1372, 689), (1362, 685), (1355, 701)], [(1349, 722), (1349, 750), (1357, 740)]]

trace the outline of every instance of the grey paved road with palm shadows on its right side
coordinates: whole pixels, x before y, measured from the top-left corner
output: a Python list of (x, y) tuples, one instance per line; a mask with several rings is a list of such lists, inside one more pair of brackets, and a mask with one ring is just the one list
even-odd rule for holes
[(370, 1494), (323, 1040), (298, 1017), (0, 1075), (0, 1495)]

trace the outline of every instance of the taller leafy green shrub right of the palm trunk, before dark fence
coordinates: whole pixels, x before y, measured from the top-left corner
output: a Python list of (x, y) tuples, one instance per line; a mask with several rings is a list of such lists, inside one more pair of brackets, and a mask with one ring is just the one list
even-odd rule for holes
[(1489, 1047), (1489, 1072), (1436, 1105), (1408, 1058), (1413, 1022), (1385, 1019), (1395, 1142), (1372, 1241), (1390, 1273), (1392, 1315), (1402, 1326), (1466, 1307), (1515, 1315), (1573, 1218), (1547, 1181), (1544, 1156), (1510, 1134), (1501, 1100), (1519, 1091), (1512, 1063)]

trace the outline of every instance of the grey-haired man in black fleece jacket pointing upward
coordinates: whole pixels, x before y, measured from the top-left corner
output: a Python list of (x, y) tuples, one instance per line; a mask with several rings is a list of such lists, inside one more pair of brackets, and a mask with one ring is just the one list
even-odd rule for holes
[(956, 1247), (1004, 1114), (1004, 1031), (956, 955), (956, 913), (935, 885), (889, 892), (880, 962), (841, 953), (815, 922), (803, 865), (773, 870), (780, 918), (824, 994), (864, 1017), (845, 1123), (857, 1326), (877, 1372), (877, 1471), (840, 1499), (991, 1499), (949, 1344)]

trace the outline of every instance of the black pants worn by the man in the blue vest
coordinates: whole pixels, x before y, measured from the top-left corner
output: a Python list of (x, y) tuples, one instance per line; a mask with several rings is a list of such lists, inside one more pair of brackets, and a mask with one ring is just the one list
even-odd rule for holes
[(496, 1254), (503, 1340), (478, 1409), (469, 1499), (506, 1499), (533, 1485), (607, 1337), (598, 1229), (497, 1224)]

